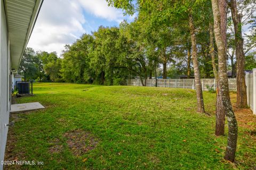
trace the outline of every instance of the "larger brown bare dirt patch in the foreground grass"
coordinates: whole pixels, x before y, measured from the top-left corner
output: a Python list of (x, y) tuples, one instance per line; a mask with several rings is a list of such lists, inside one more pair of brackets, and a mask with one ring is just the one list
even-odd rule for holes
[(93, 150), (99, 142), (90, 132), (83, 131), (82, 129), (67, 132), (64, 136), (67, 137), (67, 144), (76, 156), (81, 156)]

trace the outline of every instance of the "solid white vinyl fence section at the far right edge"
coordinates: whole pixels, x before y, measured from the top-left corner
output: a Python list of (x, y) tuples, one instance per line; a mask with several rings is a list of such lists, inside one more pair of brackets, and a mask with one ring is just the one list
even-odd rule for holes
[(256, 115), (256, 68), (251, 73), (245, 74), (245, 84), (247, 86), (247, 103)]

